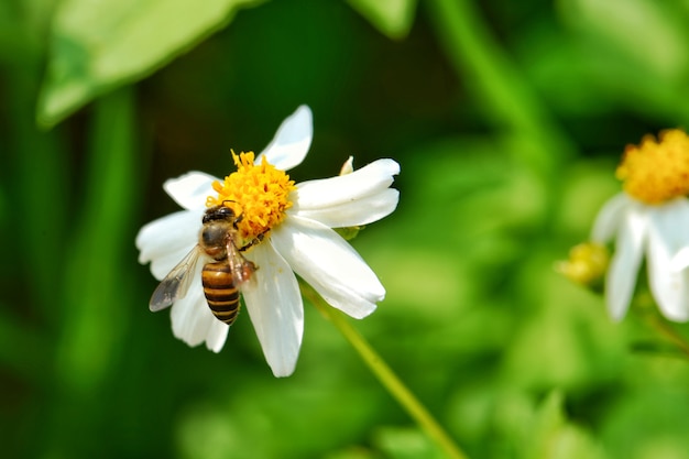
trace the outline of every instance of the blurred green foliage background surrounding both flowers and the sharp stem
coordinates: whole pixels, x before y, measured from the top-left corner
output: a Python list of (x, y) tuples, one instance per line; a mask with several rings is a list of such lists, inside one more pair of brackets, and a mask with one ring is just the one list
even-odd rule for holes
[[(689, 365), (553, 270), (624, 145), (689, 127), (689, 2), (0, 3), (0, 456), (439, 458), (306, 305), (274, 379), (245, 315), (172, 336), (133, 241), (300, 103), (297, 181), (393, 157), (354, 325), (471, 458), (689, 458)], [(677, 326), (689, 336), (689, 329)]]

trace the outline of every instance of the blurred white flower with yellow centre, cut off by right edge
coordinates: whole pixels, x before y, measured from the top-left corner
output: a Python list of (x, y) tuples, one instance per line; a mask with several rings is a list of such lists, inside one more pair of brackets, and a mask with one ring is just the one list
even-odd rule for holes
[[(627, 146), (617, 177), (624, 193), (599, 212), (592, 240), (615, 238), (605, 281), (605, 300), (613, 319), (624, 317), (646, 258), (650, 292), (670, 320), (689, 319), (689, 138), (681, 131), (661, 133), (660, 142), (644, 138)], [(682, 256), (681, 253), (685, 255)]]

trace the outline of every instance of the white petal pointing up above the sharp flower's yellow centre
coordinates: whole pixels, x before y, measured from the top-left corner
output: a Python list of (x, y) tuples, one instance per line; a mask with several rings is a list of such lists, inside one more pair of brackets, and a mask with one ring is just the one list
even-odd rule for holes
[(304, 161), (314, 136), (314, 120), (307, 106), (299, 106), (285, 119), (269, 145), (256, 156), (255, 164), (261, 164), (265, 155), (269, 163), (282, 171), (288, 171)]

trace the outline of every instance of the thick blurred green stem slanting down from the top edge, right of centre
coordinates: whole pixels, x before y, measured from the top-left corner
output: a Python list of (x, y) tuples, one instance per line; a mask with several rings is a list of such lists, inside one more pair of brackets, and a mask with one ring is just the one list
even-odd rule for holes
[(501, 48), (478, 4), (471, 0), (426, 2), (440, 45), (468, 91), (479, 99), (486, 120), (520, 142), (510, 149), (515, 159), (549, 186), (559, 177), (554, 174), (559, 163), (576, 149)]

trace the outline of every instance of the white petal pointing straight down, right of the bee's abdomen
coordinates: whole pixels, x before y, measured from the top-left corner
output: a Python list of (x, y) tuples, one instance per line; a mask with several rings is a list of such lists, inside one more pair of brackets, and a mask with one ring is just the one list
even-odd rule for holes
[(304, 334), (299, 286), (270, 241), (255, 247), (249, 258), (259, 267), (242, 288), (249, 317), (273, 374), (288, 376), (294, 372)]

